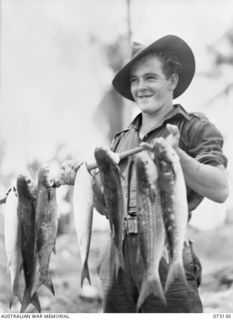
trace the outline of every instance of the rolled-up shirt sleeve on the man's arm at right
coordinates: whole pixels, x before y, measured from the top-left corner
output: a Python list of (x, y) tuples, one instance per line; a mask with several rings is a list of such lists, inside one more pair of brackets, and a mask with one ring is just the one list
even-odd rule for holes
[(208, 119), (195, 119), (188, 130), (188, 153), (201, 163), (227, 166), (223, 136)]

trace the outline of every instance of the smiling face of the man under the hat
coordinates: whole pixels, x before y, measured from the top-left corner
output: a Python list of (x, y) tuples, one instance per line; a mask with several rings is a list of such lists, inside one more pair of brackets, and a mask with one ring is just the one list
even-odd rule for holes
[(130, 72), (131, 93), (142, 112), (153, 114), (172, 106), (178, 76), (167, 79), (162, 62), (155, 54), (135, 62)]

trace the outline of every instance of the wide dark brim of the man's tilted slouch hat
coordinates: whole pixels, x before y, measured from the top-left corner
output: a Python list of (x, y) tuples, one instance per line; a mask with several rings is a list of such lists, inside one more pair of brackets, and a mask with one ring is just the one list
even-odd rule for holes
[(182, 65), (179, 72), (179, 80), (173, 92), (173, 98), (179, 97), (190, 85), (195, 73), (195, 58), (191, 48), (181, 38), (168, 35), (153, 42), (139, 51), (120, 71), (115, 75), (112, 84), (114, 88), (125, 98), (134, 101), (130, 88), (130, 70), (135, 61), (148, 52), (173, 52)]

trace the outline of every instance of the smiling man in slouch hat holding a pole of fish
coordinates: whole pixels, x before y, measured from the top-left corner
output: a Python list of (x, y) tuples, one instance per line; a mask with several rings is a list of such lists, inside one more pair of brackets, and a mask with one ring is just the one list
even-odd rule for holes
[[(189, 208), (189, 220), (194, 210), (207, 197), (224, 202), (228, 195), (225, 172), (227, 159), (223, 155), (223, 137), (218, 129), (199, 113), (189, 113), (181, 105), (173, 104), (190, 85), (195, 72), (191, 48), (181, 38), (168, 35), (147, 47), (135, 44), (132, 59), (116, 74), (113, 86), (123, 97), (135, 101), (141, 113), (130, 126), (117, 133), (112, 150), (123, 152), (141, 142), (172, 136), (171, 143), (180, 158)], [(134, 160), (120, 163), (127, 200), (127, 220), (123, 254), (126, 271), (119, 271), (110, 282), (106, 261), (100, 264), (100, 278), (104, 288), (104, 312), (136, 312), (136, 303), (143, 276), (143, 263), (138, 258), (138, 229), (136, 208), (136, 177)], [(168, 291), (167, 305), (149, 295), (140, 312), (203, 312), (198, 287), (201, 264), (187, 240), (183, 250), (183, 264), (188, 287), (177, 279)], [(168, 273), (166, 259), (160, 261), (160, 278), (164, 285)]]

